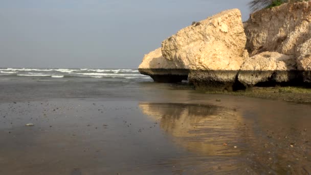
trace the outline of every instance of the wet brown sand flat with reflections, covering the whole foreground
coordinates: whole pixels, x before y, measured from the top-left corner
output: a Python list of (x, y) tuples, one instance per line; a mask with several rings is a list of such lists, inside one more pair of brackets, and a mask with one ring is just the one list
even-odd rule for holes
[(309, 104), (133, 81), (0, 89), (0, 174), (311, 173)]

